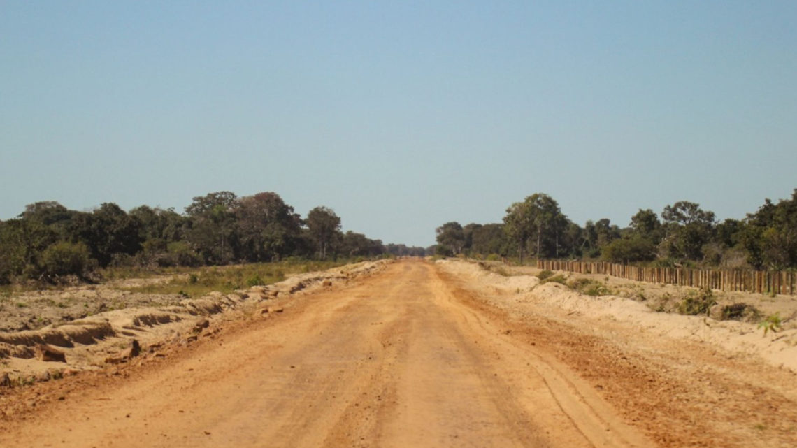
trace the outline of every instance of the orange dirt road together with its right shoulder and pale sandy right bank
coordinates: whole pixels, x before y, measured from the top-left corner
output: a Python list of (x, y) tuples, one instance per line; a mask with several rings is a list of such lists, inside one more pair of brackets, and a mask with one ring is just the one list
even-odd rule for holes
[(797, 446), (776, 356), (536, 283), (380, 265), (190, 344), (0, 388), (0, 446)]

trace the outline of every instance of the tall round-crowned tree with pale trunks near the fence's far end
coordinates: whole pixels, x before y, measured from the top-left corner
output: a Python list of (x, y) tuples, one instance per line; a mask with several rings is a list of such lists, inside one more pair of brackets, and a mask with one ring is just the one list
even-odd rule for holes
[(559, 234), (567, 226), (567, 218), (550, 196), (535, 193), (524, 202), (515, 202), (504, 217), (507, 236), (517, 242), (520, 262), (529, 239), (536, 241), (536, 256), (551, 257), (559, 253)]

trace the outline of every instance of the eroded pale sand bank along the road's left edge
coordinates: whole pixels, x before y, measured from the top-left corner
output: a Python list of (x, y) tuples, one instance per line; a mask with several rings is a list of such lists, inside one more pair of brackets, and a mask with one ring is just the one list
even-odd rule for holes
[[(197, 334), (212, 334), (211, 321), (239, 319), (255, 314), (264, 302), (288, 301), (293, 294), (344, 283), (351, 278), (383, 269), (390, 261), (367, 261), (323, 272), (303, 273), (268, 286), (224, 294), (213, 292), (205, 297), (184, 299), (176, 305), (134, 307), (99, 312), (69, 324), (51, 324), (37, 330), (0, 332), (0, 374), (14, 378), (37, 376), (52, 365), (35, 360), (36, 349), (49, 346), (63, 351), (66, 366), (92, 369), (112, 362), (125, 362), (120, 348), (129, 352), (131, 344), (139, 347), (162, 346), (164, 342), (188, 344)], [(93, 292), (92, 292), (93, 293)], [(257, 313), (258, 315), (260, 313)], [(210, 320), (209, 320), (210, 319)], [(133, 351), (135, 354), (138, 350)]]

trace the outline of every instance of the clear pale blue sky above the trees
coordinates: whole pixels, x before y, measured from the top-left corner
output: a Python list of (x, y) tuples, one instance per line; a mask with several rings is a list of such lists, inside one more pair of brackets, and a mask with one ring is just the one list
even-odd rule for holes
[(797, 187), (797, 2), (0, 2), (0, 219), (274, 191), (434, 244)]

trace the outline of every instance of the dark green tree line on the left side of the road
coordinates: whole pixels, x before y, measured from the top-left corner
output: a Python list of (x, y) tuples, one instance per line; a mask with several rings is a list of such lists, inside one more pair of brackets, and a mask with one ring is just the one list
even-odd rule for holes
[(307, 218), (273, 192), (239, 198), (217, 191), (194, 198), (184, 214), (106, 202), (91, 212), (36, 202), (0, 221), (0, 284), (112, 265), (198, 266), (284, 257), (423, 256), (426, 249), (383, 244), (340, 230), (340, 217), (318, 206)]

